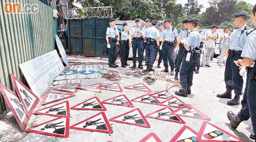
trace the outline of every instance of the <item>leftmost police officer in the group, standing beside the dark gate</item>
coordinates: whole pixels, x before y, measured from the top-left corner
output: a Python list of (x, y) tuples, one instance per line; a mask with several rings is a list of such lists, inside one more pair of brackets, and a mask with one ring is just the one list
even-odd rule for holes
[(110, 27), (106, 30), (106, 42), (109, 48), (109, 67), (117, 68), (118, 65), (115, 64), (117, 60), (117, 45), (119, 44), (119, 32), (117, 27), (115, 27), (115, 19), (111, 18), (109, 20)]

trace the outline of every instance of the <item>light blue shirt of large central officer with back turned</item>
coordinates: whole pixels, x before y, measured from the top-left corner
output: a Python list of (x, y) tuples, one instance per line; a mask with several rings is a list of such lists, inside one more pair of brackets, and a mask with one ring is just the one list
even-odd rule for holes
[[(184, 44), (188, 45), (191, 47), (191, 50), (193, 50), (195, 47), (200, 47), (201, 38), (201, 34), (197, 31), (197, 29), (194, 29), (189, 33)], [(187, 49), (187, 51), (189, 51), (189, 49)]]

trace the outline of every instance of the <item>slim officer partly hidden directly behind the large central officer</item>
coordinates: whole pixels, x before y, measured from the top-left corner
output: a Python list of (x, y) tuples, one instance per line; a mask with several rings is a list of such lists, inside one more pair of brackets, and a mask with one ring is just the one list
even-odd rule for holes
[(188, 24), (188, 19), (185, 19), (182, 21), (182, 26), (183, 26), (183, 29), (180, 31), (180, 34), (179, 34), (179, 39), (180, 39), (180, 47), (179, 47), (179, 52), (177, 53), (177, 57), (176, 57), (176, 60), (175, 60), (175, 80), (178, 80), (179, 79), (179, 72), (180, 72), (180, 66), (181, 66), (181, 62), (183, 60), (183, 56), (184, 56), (184, 42), (185, 40), (188, 38), (188, 34), (189, 34), (189, 31), (188, 31), (188, 28), (187, 28), (187, 24)]

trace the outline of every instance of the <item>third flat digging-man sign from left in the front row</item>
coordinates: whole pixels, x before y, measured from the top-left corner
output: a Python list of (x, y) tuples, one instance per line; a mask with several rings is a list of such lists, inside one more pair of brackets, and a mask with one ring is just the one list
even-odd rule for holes
[(150, 128), (150, 124), (139, 108), (109, 119), (112, 122)]

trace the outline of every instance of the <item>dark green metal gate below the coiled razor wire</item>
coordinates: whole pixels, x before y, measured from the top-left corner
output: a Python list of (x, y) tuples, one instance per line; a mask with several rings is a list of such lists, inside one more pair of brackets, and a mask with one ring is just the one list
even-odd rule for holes
[(109, 18), (69, 19), (69, 52), (71, 54), (104, 57), (106, 55), (106, 28)]

